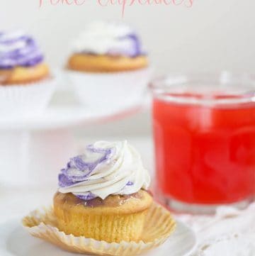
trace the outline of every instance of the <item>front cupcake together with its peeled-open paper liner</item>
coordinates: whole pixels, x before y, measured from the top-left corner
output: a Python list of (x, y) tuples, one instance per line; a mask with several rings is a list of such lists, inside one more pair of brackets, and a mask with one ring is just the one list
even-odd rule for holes
[(86, 255), (140, 255), (162, 245), (176, 222), (147, 191), (150, 178), (126, 141), (99, 141), (59, 174), (53, 206), (23, 218), (36, 238)]

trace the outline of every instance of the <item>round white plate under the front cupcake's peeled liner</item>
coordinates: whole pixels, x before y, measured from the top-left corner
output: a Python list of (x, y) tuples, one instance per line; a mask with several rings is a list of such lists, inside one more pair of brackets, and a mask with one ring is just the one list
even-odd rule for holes
[[(144, 256), (188, 256), (195, 250), (196, 235), (181, 221), (166, 242), (144, 254)], [(30, 236), (21, 226), (20, 219), (0, 224), (0, 255), (1, 256), (75, 256), (55, 245), (46, 243)]]

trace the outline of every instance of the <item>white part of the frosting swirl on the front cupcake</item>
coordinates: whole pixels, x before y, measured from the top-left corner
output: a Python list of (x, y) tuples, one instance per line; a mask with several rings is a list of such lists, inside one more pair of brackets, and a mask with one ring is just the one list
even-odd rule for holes
[[(111, 194), (133, 194), (140, 189), (149, 188), (149, 173), (142, 165), (140, 154), (126, 140), (115, 143), (98, 141), (89, 147), (95, 150), (94, 153), (87, 148), (80, 157), (86, 161), (86, 165), (96, 163), (94, 169), (86, 173), (81, 172), (80, 168), (69, 168), (69, 175), (81, 177), (85, 173), (86, 180), (60, 187), (61, 193), (72, 193), (76, 196), (93, 194), (105, 199)], [(96, 152), (102, 149), (111, 150), (111, 153), (102, 158), (103, 153)]]

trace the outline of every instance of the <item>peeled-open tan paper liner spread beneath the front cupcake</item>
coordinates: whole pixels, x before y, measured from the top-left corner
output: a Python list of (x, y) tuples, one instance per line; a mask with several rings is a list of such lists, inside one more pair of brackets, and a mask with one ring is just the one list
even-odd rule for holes
[(57, 228), (57, 221), (50, 208), (33, 211), (23, 218), (23, 226), (31, 235), (46, 240), (69, 252), (92, 255), (140, 255), (157, 247), (174, 232), (176, 223), (169, 211), (159, 204), (152, 204), (147, 213), (146, 225), (138, 243), (106, 243), (106, 241), (66, 235)]

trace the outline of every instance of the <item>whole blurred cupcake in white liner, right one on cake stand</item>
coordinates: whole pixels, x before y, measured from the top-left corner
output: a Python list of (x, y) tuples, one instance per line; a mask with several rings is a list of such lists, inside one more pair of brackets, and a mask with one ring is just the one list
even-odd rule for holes
[(102, 21), (89, 24), (74, 41), (67, 71), (81, 104), (94, 107), (140, 101), (150, 78), (135, 30)]

